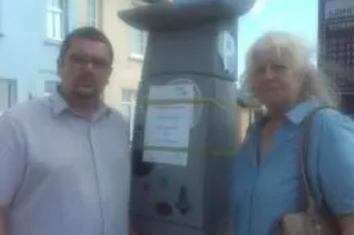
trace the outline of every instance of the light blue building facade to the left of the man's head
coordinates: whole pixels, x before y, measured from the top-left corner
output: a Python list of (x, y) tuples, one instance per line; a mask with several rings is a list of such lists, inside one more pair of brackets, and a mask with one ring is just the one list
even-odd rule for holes
[(0, 0), (0, 113), (55, 89), (59, 45), (77, 8), (72, 0)]

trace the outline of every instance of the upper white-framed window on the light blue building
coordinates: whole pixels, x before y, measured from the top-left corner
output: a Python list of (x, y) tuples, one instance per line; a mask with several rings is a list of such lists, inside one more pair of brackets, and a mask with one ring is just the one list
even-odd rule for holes
[(66, 33), (66, 1), (47, 0), (47, 38), (62, 41)]

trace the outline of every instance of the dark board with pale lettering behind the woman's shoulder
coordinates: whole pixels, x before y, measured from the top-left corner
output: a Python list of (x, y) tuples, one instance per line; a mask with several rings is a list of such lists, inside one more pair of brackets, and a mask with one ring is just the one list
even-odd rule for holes
[(343, 111), (354, 116), (354, 1), (319, 0), (319, 66), (335, 78)]

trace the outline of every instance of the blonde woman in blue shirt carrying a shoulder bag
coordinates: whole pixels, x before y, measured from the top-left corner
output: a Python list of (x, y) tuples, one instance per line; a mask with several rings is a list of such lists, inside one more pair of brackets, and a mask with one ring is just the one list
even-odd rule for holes
[[(234, 234), (280, 234), (282, 215), (300, 210), (299, 125), (319, 105), (336, 107), (336, 97), (302, 40), (285, 32), (270, 32), (253, 44), (245, 74), (268, 114), (251, 126), (235, 160)], [(344, 235), (354, 235), (354, 124), (322, 109), (314, 116), (310, 140), (312, 195), (318, 205), (326, 200)]]

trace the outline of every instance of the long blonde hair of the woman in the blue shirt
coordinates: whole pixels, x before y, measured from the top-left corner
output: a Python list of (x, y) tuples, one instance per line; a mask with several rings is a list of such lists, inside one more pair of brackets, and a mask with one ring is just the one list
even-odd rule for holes
[(268, 32), (258, 38), (246, 54), (246, 70), (243, 76), (250, 94), (252, 95), (249, 78), (255, 57), (260, 53), (275, 52), (278, 59), (287, 61), (290, 68), (299, 69), (304, 76), (299, 101), (314, 97), (326, 106), (338, 108), (336, 86), (328, 76), (316, 68), (312, 61), (314, 53), (307, 45), (300, 37), (288, 32)]

